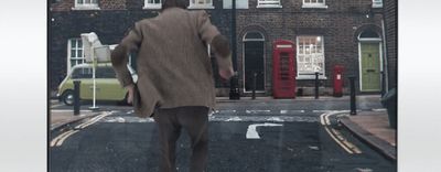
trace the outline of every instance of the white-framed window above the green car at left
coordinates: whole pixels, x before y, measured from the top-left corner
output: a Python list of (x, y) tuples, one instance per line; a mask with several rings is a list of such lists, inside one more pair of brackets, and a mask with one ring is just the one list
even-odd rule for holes
[(83, 53), (82, 39), (69, 39), (67, 42), (67, 71), (71, 67), (86, 62)]

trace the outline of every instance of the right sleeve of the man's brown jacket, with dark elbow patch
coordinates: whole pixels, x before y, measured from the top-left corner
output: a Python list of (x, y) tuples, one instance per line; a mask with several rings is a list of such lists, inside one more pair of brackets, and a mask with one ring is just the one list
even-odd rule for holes
[(232, 67), (232, 53), (228, 40), (211, 23), (209, 17), (205, 11), (198, 13), (197, 28), (201, 40), (212, 45), (219, 69)]

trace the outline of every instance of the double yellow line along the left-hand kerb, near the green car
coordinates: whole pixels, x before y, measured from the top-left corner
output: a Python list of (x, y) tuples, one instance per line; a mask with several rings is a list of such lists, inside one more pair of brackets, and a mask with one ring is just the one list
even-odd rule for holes
[(96, 117), (92, 118), (90, 120), (88, 120), (88, 121), (86, 121), (86, 122), (84, 122), (84, 123), (80, 123), (80, 125), (76, 126), (74, 130), (68, 130), (68, 131), (66, 131), (66, 132), (63, 132), (63, 133), (58, 135), (57, 137), (55, 137), (54, 139), (52, 139), (52, 141), (51, 141), (51, 147), (60, 147), (60, 146), (62, 146), (63, 142), (64, 142), (68, 137), (71, 137), (71, 136), (73, 136), (74, 133), (78, 132), (79, 129), (84, 129), (84, 128), (86, 128), (86, 127), (88, 127), (88, 126), (90, 126), (90, 125), (94, 125), (94, 123), (96, 123), (97, 121), (99, 121), (100, 119), (103, 119), (104, 117), (107, 117), (107, 116), (109, 116), (109, 115), (111, 115), (111, 112), (105, 112), (105, 114), (103, 114), (103, 115), (96, 116)]

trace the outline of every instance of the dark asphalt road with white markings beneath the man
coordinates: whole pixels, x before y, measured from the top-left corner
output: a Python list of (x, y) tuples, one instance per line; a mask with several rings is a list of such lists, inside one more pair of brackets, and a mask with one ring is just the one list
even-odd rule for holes
[[(323, 125), (321, 115), (346, 107), (330, 104), (327, 111), (323, 108), (323, 103), (322, 106), (310, 105), (311, 103), (289, 106), (288, 103), (225, 103), (218, 106), (217, 111), (209, 117), (208, 171), (396, 171), (394, 162), (340, 128), (335, 116), (330, 118), (329, 126)], [(376, 103), (366, 105), (369, 105), (366, 109), (379, 108)], [(330, 108), (331, 106), (334, 108)], [(50, 148), (50, 171), (158, 171), (159, 143), (154, 121), (135, 117), (127, 107), (103, 107), (103, 110), (112, 111), (98, 116), (92, 120), (94, 122), (77, 123), (77, 129), (74, 126), (73, 130), (51, 137), (55, 144)], [(330, 130), (340, 136), (331, 136)], [(176, 166), (180, 172), (187, 172), (190, 141), (186, 133), (182, 133), (178, 144)], [(338, 137), (344, 138), (359, 152), (345, 150), (336, 141), (335, 138)], [(64, 140), (61, 141), (60, 138)]]

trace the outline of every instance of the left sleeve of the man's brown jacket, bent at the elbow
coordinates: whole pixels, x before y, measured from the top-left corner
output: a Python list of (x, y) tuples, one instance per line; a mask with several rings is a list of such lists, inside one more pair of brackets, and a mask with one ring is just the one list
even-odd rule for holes
[(111, 64), (117, 74), (117, 78), (122, 87), (133, 84), (133, 79), (127, 63), (131, 52), (137, 52), (142, 42), (142, 33), (139, 23), (121, 40), (117, 47), (111, 52)]

